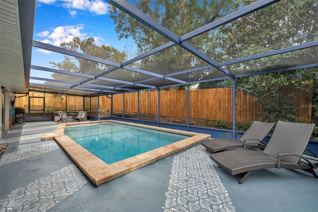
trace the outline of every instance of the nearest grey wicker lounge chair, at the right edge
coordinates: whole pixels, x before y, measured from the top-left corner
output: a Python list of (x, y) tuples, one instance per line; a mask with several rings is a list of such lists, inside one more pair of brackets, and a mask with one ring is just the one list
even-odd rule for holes
[[(211, 154), (211, 159), (222, 169), (240, 178), (243, 183), (253, 171), (266, 168), (302, 169), (318, 178), (312, 162), (303, 156), (315, 124), (278, 121), (268, 144), (260, 150), (229, 150)], [(302, 160), (300, 160), (302, 159)]]

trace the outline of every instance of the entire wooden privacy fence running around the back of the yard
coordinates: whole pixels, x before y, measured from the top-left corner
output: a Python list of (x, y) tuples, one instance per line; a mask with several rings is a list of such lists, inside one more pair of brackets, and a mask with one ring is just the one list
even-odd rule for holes
[[(311, 94), (302, 94), (299, 89), (288, 89), (289, 94), (299, 95), (295, 101), (295, 108), (300, 108), (295, 115), (302, 120), (311, 119)], [(31, 93), (33, 97), (44, 97), (43, 93)], [(97, 109), (97, 97), (83, 98), (76, 96), (62, 96), (62, 98), (45, 94), (45, 105), (52, 106), (53, 111), (58, 109), (72, 110), (92, 110)], [(18, 95), (17, 95), (18, 96)], [(122, 112), (123, 101), (125, 101), (125, 113), (138, 112), (138, 93), (127, 93), (113, 95), (113, 110)], [(139, 93), (139, 112), (141, 114), (158, 115), (158, 91)], [(66, 102), (67, 100), (67, 102)], [(209, 120), (223, 119), (232, 122), (233, 97), (232, 88), (220, 89), (201, 89), (189, 91), (189, 114), (190, 118), (199, 118)], [(42, 101), (42, 102), (41, 102)], [(84, 102), (84, 104), (83, 104)], [(33, 98), (33, 106), (43, 107), (43, 99)], [(99, 99), (100, 110), (110, 111), (111, 99), (101, 96)], [(187, 116), (187, 91), (160, 91), (160, 116), (167, 117), (186, 117)], [(37, 106), (40, 105), (40, 106)], [(83, 107), (84, 105), (84, 107)], [(17, 98), (16, 107), (28, 109), (28, 97)], [(236, 121), (247, 122), (251, 119), (261, 118), (261, 106), (255, 102), (255, 98), (249, 95), (243, 95), (242, 91), (237, 91), (236, 97)]]

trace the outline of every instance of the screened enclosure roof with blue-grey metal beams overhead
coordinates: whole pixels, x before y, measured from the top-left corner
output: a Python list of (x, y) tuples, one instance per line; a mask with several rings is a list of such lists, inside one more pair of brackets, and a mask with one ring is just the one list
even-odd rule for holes
[(117, 94), (318, 66), (316, 0), (27, 2), (26, 91)]

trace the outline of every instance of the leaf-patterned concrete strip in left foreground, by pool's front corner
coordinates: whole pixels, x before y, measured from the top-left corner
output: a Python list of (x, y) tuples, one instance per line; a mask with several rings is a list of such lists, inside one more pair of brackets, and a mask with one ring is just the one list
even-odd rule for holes
[(75, 164), (16, 189), (0, 200), (0, 212), (44, 212), (87, 183)]

